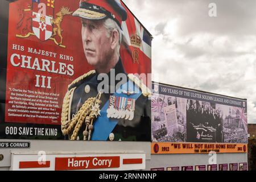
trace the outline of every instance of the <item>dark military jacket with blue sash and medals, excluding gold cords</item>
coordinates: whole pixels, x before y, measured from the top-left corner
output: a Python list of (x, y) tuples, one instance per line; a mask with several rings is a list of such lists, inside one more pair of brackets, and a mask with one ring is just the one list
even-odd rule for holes
[[(119, 59), (114, 69), (115, 75), (125, 73), (121, 59)], [(100, 112), (93, 122), (91, 140), (150, 141), (151, 102), (148, 99), (150, 90), (143, 84), (139, 87), (137, 77), (127, 75), (127, 73), (125, 73), (125, 75), (127, 76), (127, 82), (120, 86), (118, 89), (119, 92), (117, 90), (114, 94), (101, 94)], [(71, 127), (68, 132), (67, 128), (71, 125), (77, 114), (79, 114), (82, 105), (89, 98), (96, 98), (98, 96), (98, 84), (100, 84), (101, 81), (97, 80), (97, 77), (98, 73), (96, 71), (90, 71), (77, 78), (68, 87), (68, 92), (64, 98), (63, 119), (61, 119), (61, 123), (63, 133), (69, 135), (69, 139), (85, 139), (85, 136), (83, 136), (85, 134), (83, 131), (86, 129), (85, 118), (83, 118), (84, 121), (82, 121), (75, 138), (72, 138), (76, 130), (75, 124), (73, 124), (73, 127)], [(114, 85), (109, 84), (109, 88), (116, 84), (117, 82), (115, 82)], [(133, 103), (134, 106), (132, 106)], [(111, 114), (111, 106), (112, 113), (115, 111), (115, 114)], [(65, 107), (67, 109), (65, 109)], [(128, 110), (132, 111), (129, 113)], [(79, 123), (79, 121), (77, 121), (77, 123)], [(114, 138), (109, 137), (110, 134), (112, 136), (114, 134)], [(86, 140), (88, 140), (88, 138), (86, 138)]]

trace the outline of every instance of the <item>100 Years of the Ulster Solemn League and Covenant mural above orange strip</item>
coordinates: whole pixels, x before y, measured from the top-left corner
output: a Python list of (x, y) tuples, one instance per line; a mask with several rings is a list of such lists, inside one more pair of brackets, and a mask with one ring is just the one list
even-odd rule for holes
[(247, 143), (246, 100), (154, 84), (152, 141)]

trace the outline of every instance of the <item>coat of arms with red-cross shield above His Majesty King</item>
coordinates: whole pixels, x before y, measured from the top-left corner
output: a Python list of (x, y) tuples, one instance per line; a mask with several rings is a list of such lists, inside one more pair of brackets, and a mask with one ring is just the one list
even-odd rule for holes
[[(65, 15), (71, 15), (73, 12), (69, 11), (68, 7), (61, 7), (55, 14), (55, 1), (54, 0), (32, 0), (32, 5), (27, 5), (27, 9), (22, 10), (22, 19), (19, 20), (18, 28), (20, 34), (16, 35), (19, 38), (28, 38), (35, 35), (41, 41), (53, 40), (55, 44), (65, 48), (63, 45), (63, 36), (61, 35), (63, 29), (61, 22)], [(26, 14), (25, 14), (26, 13)], [(24, 18), (24, 16), (28, 18)], [(31, 20), (32, 23), (28, 23)], [(22, 26), (21, 26), (22, 25)], [(26, 27), (24, 31), (24, 27)], [(29, 31), (28, 31), (29, 30)]]

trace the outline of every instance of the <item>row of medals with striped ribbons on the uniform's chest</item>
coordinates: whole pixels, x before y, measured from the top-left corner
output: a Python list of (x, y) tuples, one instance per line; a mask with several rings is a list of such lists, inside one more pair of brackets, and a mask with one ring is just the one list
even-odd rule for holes
[(107, 117), (115, 119), (133, 120), (135, 100), (133, 98), (110, 96)]

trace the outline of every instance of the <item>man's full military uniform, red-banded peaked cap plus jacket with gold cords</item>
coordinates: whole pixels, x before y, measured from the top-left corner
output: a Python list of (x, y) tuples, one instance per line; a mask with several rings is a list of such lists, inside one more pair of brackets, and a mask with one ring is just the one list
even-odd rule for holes
[[(126, 10), (115, 0), (81, 0), (73, 16), (89, 20), (110, 18), (120, 28), (127, 19)], [(96, 71), (80, 76), (68, 86), (61, 114), (61, 131), (67, 139), (151, 140), (150, 90), (134, 75), (127, 75), (121, 59), (114, 69), (114, 76), (125, 73), (127, 78), (115, 93), (98, 90), (101, 81)], [(106, 85), (111, 89), (117, 84), (110, 81)]]

